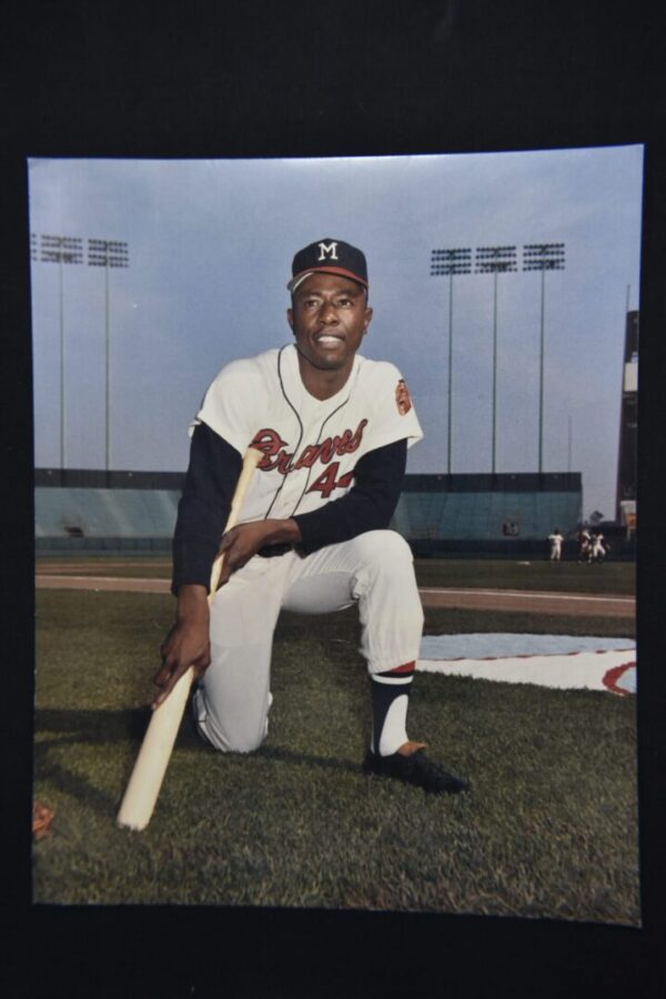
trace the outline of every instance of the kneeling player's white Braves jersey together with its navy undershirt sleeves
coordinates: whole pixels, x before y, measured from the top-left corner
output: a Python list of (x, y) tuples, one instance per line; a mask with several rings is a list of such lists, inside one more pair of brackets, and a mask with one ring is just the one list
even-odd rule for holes
[[(190, 433), (173, 538), (174, 594), (183, 583), (208, 585), (248, 443), (254, 441), (263, 458), (241, 523), (293, 516), (297, 547), (310, 554), (389, 526), (407, 445), (422, 436), (394, 365), (356, 355), (342, 392), (319, 401), (302, 385), (291, 345), (223, 369)], [(286, 488), (290, 476), (297, 491)]]

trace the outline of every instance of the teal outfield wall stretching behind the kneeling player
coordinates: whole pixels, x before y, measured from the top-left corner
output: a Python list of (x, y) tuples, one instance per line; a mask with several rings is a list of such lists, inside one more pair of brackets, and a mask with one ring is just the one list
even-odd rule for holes
[[(181, 473), (36, 471), (38, 553), (169, 552)], [(582, 517), (579, 473), (407, 475), (392, 527), (417, 555), (516, 557), (547, 553), (558, 527), (565, 555)], [(620, 554), (626, 545), (615, 547)]]

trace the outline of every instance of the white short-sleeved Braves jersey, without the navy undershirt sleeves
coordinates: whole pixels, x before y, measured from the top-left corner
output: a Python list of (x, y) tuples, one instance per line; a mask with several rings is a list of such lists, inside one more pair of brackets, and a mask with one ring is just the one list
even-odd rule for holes
[(351, 490), (364, 454), (423, 437), (394, 364), (356, 354), (340, 392), (317, 400), (303, 385), (293, 344), (223, 367), (191, 430), (198, 423), (240, 454), (250, 445), (263, 452), (240, 523), (316, 509)]

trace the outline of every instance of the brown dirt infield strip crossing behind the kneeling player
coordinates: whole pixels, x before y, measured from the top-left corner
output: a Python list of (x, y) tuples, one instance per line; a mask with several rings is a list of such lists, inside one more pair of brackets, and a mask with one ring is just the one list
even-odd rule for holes
[[(74, 575), (59, 573), (62, 565), (40, 571), (36, 585), (42, 589), (104, 589), (122, 593), (169, 593), (170, 581), (119, 576)], [(88, 568), (90, 564), (67, 568)], [(605, 594), (544, 593), (516, 589), (458, 589), (424, 587), (418, 591), (426, 607), (464, 607), (474, 610), (522, 610), (533, 614), (598, 615), (601, 617), (634, 618), (633, 596)]]

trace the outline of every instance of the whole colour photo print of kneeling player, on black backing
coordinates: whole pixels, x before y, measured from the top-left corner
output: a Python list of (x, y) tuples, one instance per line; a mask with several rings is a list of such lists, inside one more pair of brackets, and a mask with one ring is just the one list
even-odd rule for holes
[(643, 152), (29, 161), (33, 902), (640, 926)]

